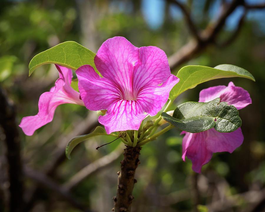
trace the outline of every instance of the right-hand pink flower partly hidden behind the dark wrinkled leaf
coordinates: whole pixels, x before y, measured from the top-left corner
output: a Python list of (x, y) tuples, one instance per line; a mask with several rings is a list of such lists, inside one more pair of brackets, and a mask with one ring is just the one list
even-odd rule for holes
[[(220, 85), (201, 90), (199, 102), (209, 102), (218, 97), (222, 102), (234, 105), (238, 110), (252, 103), (249, 93), (241, 87), (236, 87), (233, 82), (229, 82), (228, 86)], [(192, 161), (192, 169), (198, 173), (201, 173), (202, 166), (211, 160), (213, 153), (232, 153), (244, 140), (240, 127), (227, 133), (217, 132), (212, 128), (204, 132), (183, 131), (180, 134), (185, 134), (182, 159), (185, 161), (187, 156)]]

